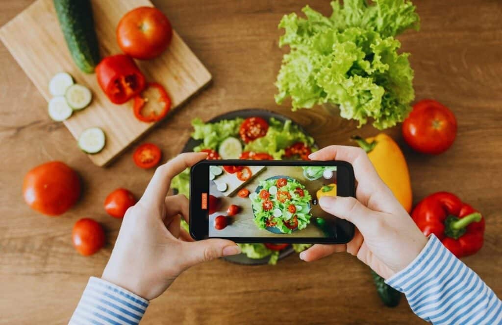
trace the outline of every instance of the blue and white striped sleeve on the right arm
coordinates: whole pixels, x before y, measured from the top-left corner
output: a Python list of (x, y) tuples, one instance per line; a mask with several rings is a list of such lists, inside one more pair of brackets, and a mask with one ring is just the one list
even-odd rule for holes
[(502, 324), (502, 302), (434, 235), (404, 270), (386, 281), (434, 324)]

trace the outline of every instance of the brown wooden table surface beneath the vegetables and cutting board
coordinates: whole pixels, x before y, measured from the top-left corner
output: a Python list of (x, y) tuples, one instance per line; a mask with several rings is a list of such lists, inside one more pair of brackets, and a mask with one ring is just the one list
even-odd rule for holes
[[(31, 1), (3, 1), (0, 25)], [(321, 108), (292, 113), (273, 95), (282, 51), (277, 47), (281, 17), (306, 4), (329, 14), (327, 1), (155, 1), (213, 75), (212, 84), (144, 140), (161, 145), (165, 159), (176, 155), (190, 134), (190, 120), (207, 120), (244, 107), (263, 107), (301, 123), (320, 145), (348, 144), (352, 134), (372, 127), (327, 115)], [(480, 209), (486, 217), (483, 249), (465, 258), (502, 296), (502, 3), (497, 0), (421, 0), (420, 32), (400, 37), (412, 53), (417, 99), (449, 106), (459, 124), (455, 144), (440, 156), (425, 156), (404, 145), (414, 202), (445, 190)], [(54, 31), (59, 33), (59, 31)], [(65, 49), (64, 49), (65, 50)], [(46, 102), (0, 45), (0, 323), (66, 323), (90, 275), (99, 276), (120, 222), (102, 208), (117, 187), (140, 196), (152, 171), (133, 165), (132, 150), (109, 168), (94, 166)], [(41, 216), (23, 202), (24, 174), (47, 160), (63, 160), (83, 178), (77, 206), (59, 218)], [(82, 217), (99, 220), (110, 243), (92, 257), (73, 249), (70, 232)], [(277, 266), (239, 266), (222, 260), (182, 274), (154, 300), (144, 323), (420, 323), (405, 300), (386, 308), (376, 295), (368, 268), (338, 254), (316, 263), (293, 255)]]

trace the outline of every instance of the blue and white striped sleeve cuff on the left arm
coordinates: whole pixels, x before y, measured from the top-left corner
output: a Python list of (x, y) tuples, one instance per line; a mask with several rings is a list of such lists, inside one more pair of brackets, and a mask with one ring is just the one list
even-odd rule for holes
[(91, 277), (69, 324), (137, 325), (148, 304), (148, 300), (131, 291)]

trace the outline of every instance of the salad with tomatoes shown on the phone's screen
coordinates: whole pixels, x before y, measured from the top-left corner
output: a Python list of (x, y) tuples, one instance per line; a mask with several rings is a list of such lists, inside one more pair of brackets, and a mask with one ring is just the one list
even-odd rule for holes
[(261, 181), (259, 193), (252, 193), (255, 223), (258, 228), (276, 227), (283, 234), (305, 229), (310, 223), (312, 197), (297, 180), (290, 178)]

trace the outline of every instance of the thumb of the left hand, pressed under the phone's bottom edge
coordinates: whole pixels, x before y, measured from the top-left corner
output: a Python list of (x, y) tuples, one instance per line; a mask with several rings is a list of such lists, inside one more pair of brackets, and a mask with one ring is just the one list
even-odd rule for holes
[(184, 242), (182, 249), (185, 269), (218, 257), (240, 254), (240, 247), (225, 239), (205, 239), (196, 242)]

